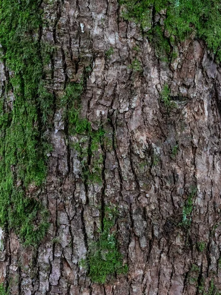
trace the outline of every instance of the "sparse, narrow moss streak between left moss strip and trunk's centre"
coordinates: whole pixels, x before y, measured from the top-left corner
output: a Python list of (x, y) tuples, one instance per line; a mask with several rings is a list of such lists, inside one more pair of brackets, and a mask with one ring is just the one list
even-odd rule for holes
[(88, 145), (85, 147), (85, 139), (73, 145), (78, 152), (82, 164), (82, 177), (87, 184), (102, 183), (103, 155), (98, 154), (99, 145), (104, 143), (105, 131), (100, 126), (93, 130), (91, 123), (81, 117), (81, 95), (83, 92), (83, 79), (80, 83), (69, 83), (65, 94), (61, 98), (61, 104), (66, 108), (66, 121), (69, 135), (86, 136)]

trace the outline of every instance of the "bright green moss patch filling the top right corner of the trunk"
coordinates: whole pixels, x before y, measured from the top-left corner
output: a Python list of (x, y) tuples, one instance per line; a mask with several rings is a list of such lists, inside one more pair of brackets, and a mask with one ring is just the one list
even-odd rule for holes
[[(139, 23), (144, 31), (152, 29), (153, 15), (166, 9), (164, 28), (167, 36), (175, 36), (178, 41), (194, 33), (206, 41), (221, 60), (221, 2), (220, 0), (120, 0), (125, 8), (123, 17)], [(153, 38), (154, 35), (152, 34)], [(169, 41), (160, 38), (159, 45)], [(166, 46), (166, 51), (168, 46)]]

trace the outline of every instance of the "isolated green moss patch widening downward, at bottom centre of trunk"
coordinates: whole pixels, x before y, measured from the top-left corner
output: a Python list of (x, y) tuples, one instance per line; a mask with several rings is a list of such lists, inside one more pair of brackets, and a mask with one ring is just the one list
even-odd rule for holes
[(128, 266), (123, 266), (122, 254), (118, 251), (115, 232), (111, 231), (116, 218), (116, 209), (106, 207), (103, 231), (97, 241), (89, 244), (87, 259), (82, 266), (88, 267), (88, 275), (93, 282), (104, 284), (107, 276), (126, 273)]

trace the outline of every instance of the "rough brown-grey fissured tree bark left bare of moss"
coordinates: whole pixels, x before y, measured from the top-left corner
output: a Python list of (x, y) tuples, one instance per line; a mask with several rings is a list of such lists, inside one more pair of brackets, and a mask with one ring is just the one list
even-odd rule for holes
[[(94, 129), (105, 126), (109, 145), (88, 162), (103, 154), (102, 184), (85, 183), (70, 144), (81, 136), (68, 138), (63, 110), (55, 108), (47, 183), (29, 192), (40, 195), (51, 226), (37, 250), (0, 232), (0, 281), (11, 295), (198, 295), (202, 278), (206, 292), (211, 280), (221, 290), (220, 67), (193, 39), (179, 45), (173, 62), (160, 61), (139, 27), (120, 17), (117, 0), (45, 0), (42, 7), (41, 38), (56, 48), (47, 69), (51, 89), (59, 96), (90, 65), (82, 116)], [(128, 67), (136, 58), (142, 73)], [(3, 89), (3, 64), (0, 75)], [(160, 101), (166, 83), (177, 103), (169, 113)], [(185, 228), (183, 208), (193, 187)], [(118, 207), (115, 229), (129, 271), (99, 285), (79, 262), (110, 203)]]

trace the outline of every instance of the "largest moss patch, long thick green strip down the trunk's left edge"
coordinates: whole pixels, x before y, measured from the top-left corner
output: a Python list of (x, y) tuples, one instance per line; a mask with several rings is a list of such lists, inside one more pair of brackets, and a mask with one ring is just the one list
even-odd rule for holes
[(2, 59), (13, 72), (6, 90), (15, 97), (11, 111), (0, 97), (0, 225), (7, 224), (26, 245), (36, 245), (48, 228), (43, 206), (25, 194), (47, 174), (49, 146), (42, 125), (53, 102), (42, 80), (40, 3), (0, 0)]

